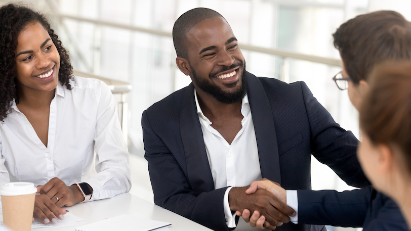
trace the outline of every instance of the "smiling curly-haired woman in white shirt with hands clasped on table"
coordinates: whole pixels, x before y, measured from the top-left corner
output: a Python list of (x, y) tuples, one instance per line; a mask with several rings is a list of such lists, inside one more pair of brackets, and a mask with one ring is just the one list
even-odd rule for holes
[(38, 185), (34, 216), (63, 219), (62, 206), (130, 190), (127, 146), (114, 98), (97, 79), (72, 76), (47, 19), (0, 8), (0, 183)]

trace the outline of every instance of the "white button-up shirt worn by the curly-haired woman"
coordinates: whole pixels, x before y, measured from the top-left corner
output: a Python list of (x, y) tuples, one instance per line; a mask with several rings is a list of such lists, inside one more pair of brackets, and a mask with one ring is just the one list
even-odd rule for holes
[(131, 188), (129, 154), (108, 86), (75, 77), (73, 89), (59, 83), (50, 104), (47, 147), (13, 102), (0, 123), (0, 183), (28, 181), (44, 185), (58, 177), (67, 186), (87, 182), (92, 200)]

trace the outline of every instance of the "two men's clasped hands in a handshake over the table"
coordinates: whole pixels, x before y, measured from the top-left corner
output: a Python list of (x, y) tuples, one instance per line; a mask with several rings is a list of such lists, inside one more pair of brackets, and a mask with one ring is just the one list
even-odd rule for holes
[(250, 187), (233, 187), (228, 194), (228, 204), (231, 211), (258, 229), (275, 229), (296, 215), (286, 204), (286, 191), (266, 178), (253, 181)]

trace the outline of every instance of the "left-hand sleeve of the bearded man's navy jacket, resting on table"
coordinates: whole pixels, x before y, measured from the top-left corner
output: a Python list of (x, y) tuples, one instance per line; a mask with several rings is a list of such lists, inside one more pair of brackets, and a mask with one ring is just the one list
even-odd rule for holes
[(194, 195), (181, 167), (185, 164), (179, 164), (185, 159), (176, 159), (152, 129), (146, 111), (142, 115), (142, 127), (154, 203), (214, 230), (229, 230), (223, 206), (227, 188)]

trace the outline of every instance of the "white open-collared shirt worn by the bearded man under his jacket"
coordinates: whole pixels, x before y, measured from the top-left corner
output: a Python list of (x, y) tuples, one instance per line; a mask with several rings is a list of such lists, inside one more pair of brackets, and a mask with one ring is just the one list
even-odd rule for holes
[[(204, 116), (194, 91), (197, 113), (203, 133), (205, 151), (210, 163), (215, 189), (248, 186), (253, 180), (261, 179), (256, 133), (247, 96), (242, 99), (242, 128), (238, 131), (231, 145), (214, 129), (212, 122)], [(228, 204), (228, 188), (224, 196), (224, 212), (228, 227), (235, 227), (235, 214), (231, 214)], [(251, 227), (249, 224), (247, 224)]]

